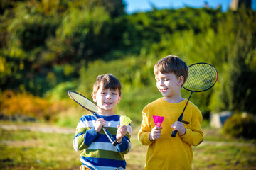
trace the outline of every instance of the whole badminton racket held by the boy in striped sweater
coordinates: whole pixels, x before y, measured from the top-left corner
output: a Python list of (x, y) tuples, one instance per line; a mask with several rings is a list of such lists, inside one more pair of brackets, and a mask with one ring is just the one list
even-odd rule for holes
[[(68, 96), (70, 96), (70, 98), (72, 98), (73, 101), (75, 101), (75, 103), (78, 103), (80, 106), (82, 106), (82, 108), (85, 108), (87, 109), (87, 111), (90, 111), (97, 119), (97, 116), (95, 115), (95, 113), (97, 113), (97, 106), (95, 105), (95, 103), (90, 101), (90, 99), (86, 98), (85, 96), (82, 96), (82, 94), (79, 94), (78, 92), (75, 92), (75, 91), (68, 91)], [(112, 137), (112, 135), (107, 130), (107, 128), (103, 126), (102, 129), (107, 135), (107, 138), (110, 140), (112, 145), (116, 146), (117, 141), (114, 140), (114, 137)]]

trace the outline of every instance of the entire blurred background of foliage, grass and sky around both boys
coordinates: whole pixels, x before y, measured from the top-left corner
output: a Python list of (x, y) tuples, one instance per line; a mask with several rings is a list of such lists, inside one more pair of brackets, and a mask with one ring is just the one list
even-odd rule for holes
[(193, 169), (255, 169), (255, 10), (255, 0), (1, 0), (0, 168), (79, 169), (73, 137), (87, 112), (67, 92), (91, 98), (97, 75), (110, 73), (122, 83), (115, 112), (129, 116), (134, 129), (127, 169), (142, 169), (142, 109), (161, 97), (153, 67), (177, 55), (218, 70), (215, 86), (191, 101), (203, 114), (206, 140), (228, 142), (210, 152), (227, 150), (222, 158), (195, 148), (195, 158), (203, 152), (207, 159)]

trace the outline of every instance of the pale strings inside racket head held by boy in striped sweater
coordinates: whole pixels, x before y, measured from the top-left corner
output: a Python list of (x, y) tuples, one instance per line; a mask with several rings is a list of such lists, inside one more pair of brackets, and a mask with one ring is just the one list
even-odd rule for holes
[(90, 101), (89, 99), (85, 98), (84, 96), (80, 95), (80, 94), (76, 94), (73, 92), (70, 92), (70, 96), (77, 101), (78, 103), (80, 103), (80, 105), (84, 106), (85, 108), (87, 108), (90, 111), (93, 112), (97, 112), (97, 106), (95, 106), (94, 103), (92, 103), (92, 101)]

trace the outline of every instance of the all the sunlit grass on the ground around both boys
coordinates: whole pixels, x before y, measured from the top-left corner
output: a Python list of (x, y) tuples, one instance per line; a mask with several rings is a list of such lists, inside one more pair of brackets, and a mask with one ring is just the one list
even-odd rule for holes
[[(46, 124), (38, 126), (48, 127)], [(147, 147), (139, 144), (138, 130), (138, 127), (133, 128), (132, 149), (125, 156), (128, 170), (143, 169), (146, 159)], [(230, 138), (210, 128), (204, 131), (205, 142), (193, 147), (193, 169), (256, 169), (255, 140)], [(0, 129), (0, 134), (0, 169), (71, 170), (80, 167), (80, 152), (73, 149), (72, 133)]]

